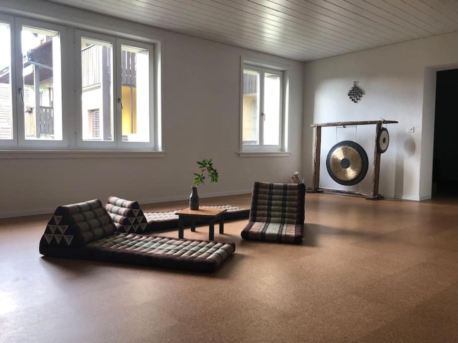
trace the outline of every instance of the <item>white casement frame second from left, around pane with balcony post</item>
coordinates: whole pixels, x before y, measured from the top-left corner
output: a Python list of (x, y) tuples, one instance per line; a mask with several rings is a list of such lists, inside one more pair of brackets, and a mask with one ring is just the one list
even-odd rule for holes
[[(39, 28), (43, 30), (49, 31), (57, 31), (59, 32), (59, 40), (60, 40), (60, 61), (61, 61), (61, 99), (60, 103), (62, 106), (62, 139), (61, 140), (27, 140), (25, 138), (25, 121), (24, 121), (24, 100), (20, 95), (20, 92), (24, 92), (24, 78), (23, 78), (23, 55), (22, 55), (22, 39), (21, 39), (21, 32), (23, 26), (29, 26), (33, 28)], [(17, 138), (18, 138), (18, 148), (21, 150), (27, 149), (39, 149), (39, 150), (49, 150), (49, 149), (63, 149), (67, 147), (68, 143), (66, 141), (66, 125), (67, 125), (67, 111), (64, 108), (64, 96), (63, 96), (63, 83), (64, 80), (68, 77), (68, 68), (66, 67), (67, 64), (67, 54), (65, 49), (65, 42), (67, 41), (67, 31), (64, 26), (50, 24), (48, 22), (42, 22), (37, 20), (31, 19), (24, 19), (24, 18), (16, 18), (15, 20), (15, 65), (17, 68), (15, 69), (16, 74), (16, 115), (17, 115)], [(53, 47), (54, 48), (54, 47)]]

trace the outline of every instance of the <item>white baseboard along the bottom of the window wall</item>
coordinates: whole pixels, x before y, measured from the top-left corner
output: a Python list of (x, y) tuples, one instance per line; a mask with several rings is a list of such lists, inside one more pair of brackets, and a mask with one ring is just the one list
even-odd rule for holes
[[(239, 194), (249, 194), (251, 193), (252, 189), (243, 189), (243, 190), (234, 190), (234, 191), (227, 191), (227, 192), (219, 192), (219, 193), (204, 193), (199, 194), (200, 198), (211, 198), (216, 196), (226, 196), (226, 195), (239, 195)], [(170, 196), (164, 198), (151, 198), (151, 199), (142, 199), (137, 200), (140, 204), (152, 204), (158, 202), (169, 202), (169, 201), (178, 201), (178, 200), (187, 200), (189, 199), (188, 195), (178, 195), (178, 196)], [(105, 201), (101, 199), (103, 203)], [(133, 199), (136, 200), (136, 199)], [(53, 208), (42, 208), (42, 209), (33, 209), (33, 210), (23, 210), (23, 211), (11, 211), (11, 212), (0, 212), (0, 219), (1, 218), (13, 218), (13, 217), (25, 217), (29, 215), (39, 215), (39, 214), (51, 214), (55, 210)]]

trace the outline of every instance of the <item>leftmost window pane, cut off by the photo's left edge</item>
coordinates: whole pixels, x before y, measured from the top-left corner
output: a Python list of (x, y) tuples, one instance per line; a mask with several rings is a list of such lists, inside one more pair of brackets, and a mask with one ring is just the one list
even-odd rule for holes
[(0, 23), (0, 140), (13, 139), (10, 25)]

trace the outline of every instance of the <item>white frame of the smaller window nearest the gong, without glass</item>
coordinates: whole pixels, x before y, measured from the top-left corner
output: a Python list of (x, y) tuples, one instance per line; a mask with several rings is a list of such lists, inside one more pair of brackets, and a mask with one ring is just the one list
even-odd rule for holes
[[(253, 70), (259, 72), (259, 142), (258, 144), (243, 144), (243, 70)], [(276, 152), (284, 152), (285, 151), (285, 74), (286, 70), (283, 67), (275, 67), (271, 65), (265, 65), (262, 62), (247, 62), (243, 61), (241, 63), (241, 70), (240, 70), (240, 152), (247, 152), (247, 153), (254, 153), (254, 152), (261, 152), (261, 153), (276, 153)], [(280, 77), (280, 123), (279, 123), (279, 144), (278, 145), (264, 145), (264, 74), (274, 74)]]

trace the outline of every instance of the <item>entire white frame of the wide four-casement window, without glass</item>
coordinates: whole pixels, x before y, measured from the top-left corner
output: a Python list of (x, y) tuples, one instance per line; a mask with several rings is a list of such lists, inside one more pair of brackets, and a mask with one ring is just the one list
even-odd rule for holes
[[(11, 94), (12, 94), (12, 126), (13, 139), (0, 140), (0, 150), (9, 151), (141, 151), (163, 153), (162, 118), (161, 118), (161, 42), (143, 37), (122, 34), (110, 35), (104, 29), (86, 27), (84, 25), (59, 25), (57, 19), (50, 22), (41, 18), (28, 19), (0, 13), (0, 22), (10, 26), (11, 39)], [(24, 89), (22, 75), (23, 55), (21, 49), (22, 26), (36, 27), (44, 30), (57, 31), (60, 35), (61, 59), (61, 104), (62, 104), (62, 140), (25, 139), (24, 101), (19, 89)], [(76, 27), (76, 28), (75, 28)], [(106, 32), (101, 34), (100, 32)], [(81, 113), (81, 49), (80, 39), (105, 41), (112, 44), (112, 75), (113, 75), (113, 141), (83, 141)], [(148, 49), (149, 58), (149, 142), (122, 141), (122, 109), (118, 103), (121, 97), (121, 45)], [(18, 67), (19, 66), (19, 67)], [(119, 79), (119, 82), (118, 82)], [(110, 155), (111, 156), (111, 155)], [(130, 156), (130, 155), (129, 155)], [(158, 155), (159, 156), (159, 155)], [(162, 156), (162, 155), (160, 155)]]

